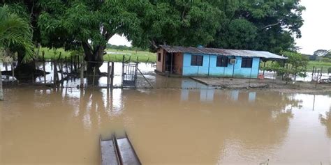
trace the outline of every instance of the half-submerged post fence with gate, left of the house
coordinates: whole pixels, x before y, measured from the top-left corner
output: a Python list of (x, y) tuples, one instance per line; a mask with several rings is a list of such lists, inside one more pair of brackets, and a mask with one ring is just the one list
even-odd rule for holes
[[(61, 56), (61, 55), (60, 55)], [(96, 62), (96, 61), (84, 61), (82, 56), (72, 56), (70, 58), (57, 58), (52, 60), (45, 60), (45, 58), (37, 59), (34, 61), (36, 72), (24, 79), (15, 79), (15, 68), (17, 61), (3, 63), (3, 70), (5, 70), (5, 86), (17, 85), (17, 84), (31, 84), (34, 86), (51, 86), (51, 87), (98, 87), (98, 88), (135, 88), (135, 82), (131, 86), (124, 86), (123, 79), (128, 72), (122, 72), (121, 65), (135, 65), (137, 66), (133, 77), (137, 77), (137, 74), (142, 74), (138, 69), (137, 62), (131, 62), (131, 58), (123, 58), (122, 63), (115, 62)], [(138, 58), (137, 58), (138, 60)], [(115, 73), (115, 65), (117, 66), (117, 72)], [(146, 66), (149, 65), (146, 63)], [(153, 63), (150, 65), (154, 66)], [(121, 71), (122, 69), (122, 71)], [(115, 85), (116, 74), (116, 85)], [(151, 88), (152, 84), (142, 74), (145, 81), (148, 82)]]

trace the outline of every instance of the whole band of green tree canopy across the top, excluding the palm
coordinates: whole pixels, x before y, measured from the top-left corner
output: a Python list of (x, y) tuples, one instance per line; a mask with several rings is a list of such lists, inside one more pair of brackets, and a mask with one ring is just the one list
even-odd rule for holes
[(43, 47), (83, 46), (93, 58), (101, 56), (115, 33), (143, 49), (166, 43), (280, 53), (295, 49), (304, 10), (298, 0), (3, 2), (10, 3), (15, 13), (31, 13), (34, 41)]

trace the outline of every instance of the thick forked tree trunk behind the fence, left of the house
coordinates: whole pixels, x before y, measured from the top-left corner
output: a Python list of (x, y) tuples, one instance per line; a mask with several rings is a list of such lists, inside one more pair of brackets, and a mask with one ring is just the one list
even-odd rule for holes
[(87, 74), (93, 74), (94, 69), (96, 74), (101, 74), (99, 68), (103, 64), (103, 50), (105, 47), (98, 45), (92, 49), (88, 42), (82, 42), (82, 47), (85, 54), (84, 60), (87, 61)]

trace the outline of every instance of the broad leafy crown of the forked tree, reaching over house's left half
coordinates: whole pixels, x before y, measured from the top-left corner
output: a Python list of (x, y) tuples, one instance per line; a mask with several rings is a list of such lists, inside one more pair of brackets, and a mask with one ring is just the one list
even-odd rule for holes
[[(38, 26), (47, 47), (76, 49), (102, 62), (108, 40), (119, 33), (138, 47), (207, 45), (219, 26), (220, 10), (205, 1), (41, 1)], [(89, 63), (91, 72), (101, 63)]]

